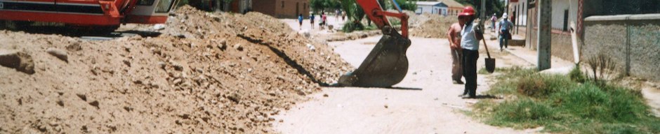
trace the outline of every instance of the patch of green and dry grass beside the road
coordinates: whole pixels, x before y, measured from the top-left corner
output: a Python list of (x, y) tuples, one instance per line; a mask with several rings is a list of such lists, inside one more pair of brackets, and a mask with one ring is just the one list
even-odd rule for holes
[(470, 114), (486, 124), (544, 126), (550, 133), (660, 133), (660, 119), (650, 114), (640, 91), (576, 79), (581, 73), (547, 75), (523, 68), (499, 72), (487, 94), (510, 97), (501, 103), (480, 101)]

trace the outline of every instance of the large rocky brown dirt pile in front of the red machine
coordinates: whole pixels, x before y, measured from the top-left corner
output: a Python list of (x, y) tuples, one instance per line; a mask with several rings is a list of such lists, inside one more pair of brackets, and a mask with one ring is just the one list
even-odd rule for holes
[(154, 38), (0, 31), (0, 50), (34, 66), (0, 66), (0, 133), (273, 133), (272, 115), (351, 69), (270, 16), (189, 6)]

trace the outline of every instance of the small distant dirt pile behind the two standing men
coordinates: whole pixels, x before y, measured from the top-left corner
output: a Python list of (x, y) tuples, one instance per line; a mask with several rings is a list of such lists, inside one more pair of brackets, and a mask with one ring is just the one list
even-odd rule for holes
[(417, 17), (428, 18), (428, 20), (418, 21), (421, 24), (417, 27), (412, 27), (410, 34), (424, 38), (447, 38), (447, 30), (449, 30), (451, 24), (458, 22), (458, 18), (453, 16), (425, 13)]

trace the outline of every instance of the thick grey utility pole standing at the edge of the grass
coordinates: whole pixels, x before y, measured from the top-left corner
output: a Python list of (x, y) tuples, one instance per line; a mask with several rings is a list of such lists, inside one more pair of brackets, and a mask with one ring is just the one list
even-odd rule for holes
[(539, 33), (537, 35), (537, 40), (536, 40), (536, 48), (538, 49), (537, 52), (539, 52), (539, 61), (537, 64), (537, 68), (539, 70), (546, 70), (550, 68), (550, 57), (551, 57), (551, 33), (550, 33), (550, 28), (552, 27), (552, 0), (537, 0), (539, 2), (539, 13), (538, 13), (538, 20), (539, 20)]

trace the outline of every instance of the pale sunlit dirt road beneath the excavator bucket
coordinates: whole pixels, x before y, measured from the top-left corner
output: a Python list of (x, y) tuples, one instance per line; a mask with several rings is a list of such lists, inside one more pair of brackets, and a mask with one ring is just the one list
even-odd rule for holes
[[(380, 36), (333, 42), (335, 52), (359, 66)], [(449, 47), (442, 38), (411, 38), (410, 68), (395, 89), (326, 87), (276, 117), (282, 133), (534, 133), (497, 128), (462, 113), (475, 99), (461, 99), (463, 84), (451, 84)], [(481, 52), (485, 52), (482, 50)], [(483, 67), (483, 54), (477, 66)], [(524, 61), (502, 55), (499, 67)], [(500, 60), (500, 59), (498, 59)], [(505, 65), (507, 64), (507, 65)], [(477, 91), (487, 90), (487, 78), (478, 75)], [(327, 95), (327, 97), (324, 97)]]

